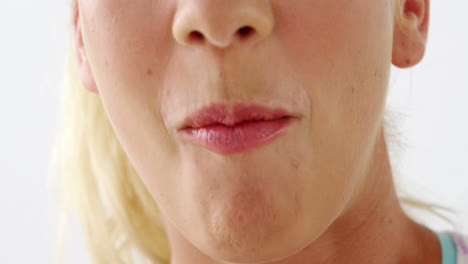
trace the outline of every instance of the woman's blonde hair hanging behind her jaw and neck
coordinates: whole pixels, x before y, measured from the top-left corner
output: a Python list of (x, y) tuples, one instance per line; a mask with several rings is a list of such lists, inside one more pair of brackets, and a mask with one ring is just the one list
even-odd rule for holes
[[(77, 2), (72, 1), (74, 18)], [(62, 157), (57, 161), (62, 179), (57, 262), (62, 262), (61, 246), (72, 207), (94, 263), (136, 263), (136, 259), (138, 263), (170, 263), (158, 207), (123, 151), (100, 97), (82, 87), (74, 52), (67, 57), (65, 80), (55, 155)], [(403, 204), (434, 214), (444, 209), (409, 196), (399, 198)]]

